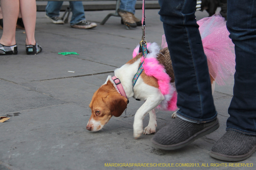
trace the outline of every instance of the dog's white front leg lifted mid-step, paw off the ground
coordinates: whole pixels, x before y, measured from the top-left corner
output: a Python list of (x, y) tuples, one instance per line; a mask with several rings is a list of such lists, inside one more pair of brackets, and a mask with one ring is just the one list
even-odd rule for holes
[(154, 95), (147, 98), (145, 103), (137, 110), (133, 122), (133, 137), (137, 139), (143, 133), (143, 117), (149, 111), (156, 108), (161, 101), (164, 100), (163, 95)]

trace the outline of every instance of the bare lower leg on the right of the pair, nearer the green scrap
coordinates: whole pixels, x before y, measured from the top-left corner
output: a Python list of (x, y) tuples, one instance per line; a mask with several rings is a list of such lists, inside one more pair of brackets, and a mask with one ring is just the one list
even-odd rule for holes
[(20, 0), (20, 13), (26, 30), (26, 45), (36, 45), (36, 0)]

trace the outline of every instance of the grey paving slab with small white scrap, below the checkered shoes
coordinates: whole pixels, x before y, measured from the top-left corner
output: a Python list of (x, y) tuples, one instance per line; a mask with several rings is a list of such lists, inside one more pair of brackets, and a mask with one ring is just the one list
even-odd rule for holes
[[(24, 83), (45, 79), (91, 75), (109, 72), (115, 69), (112, 66), (66, 55), (42, 53), (32, 56), (17, 56), (1, 56), (0, 78), (16, 83)], [(9, 68), (12, 68), (11, 71)]]

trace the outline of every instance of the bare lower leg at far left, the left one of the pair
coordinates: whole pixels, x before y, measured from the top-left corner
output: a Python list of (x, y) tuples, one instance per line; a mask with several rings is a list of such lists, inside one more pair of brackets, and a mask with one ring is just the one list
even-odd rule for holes
[(5, 46), (13, 46), (16, 44), (15, 32), (16, 24), (19, 15), (19, 0), (1, 0), (3, 12), (3, 35), (0, 43)]

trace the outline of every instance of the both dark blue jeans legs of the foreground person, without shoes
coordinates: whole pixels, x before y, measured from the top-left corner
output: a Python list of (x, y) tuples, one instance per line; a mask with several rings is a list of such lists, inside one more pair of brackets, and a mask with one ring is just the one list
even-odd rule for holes
[[(227, 28), (235, 44), (236, 73), (226, 130), (256, 135), (256, 0), (228, 0)], [(171, 54), (178, 116), (192, 122), (216, 117), (206, 57), (195, 19), (196, 0), (159, 0)]]

